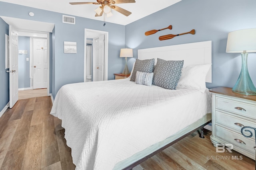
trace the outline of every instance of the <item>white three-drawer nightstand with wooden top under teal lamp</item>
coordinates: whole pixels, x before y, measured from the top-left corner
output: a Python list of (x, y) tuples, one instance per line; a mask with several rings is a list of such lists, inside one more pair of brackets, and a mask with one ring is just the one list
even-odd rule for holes
[[(255, 134), (244, 137), (241, 129), (244, 126), (256, 128), (256, 96), (232, 92), (232, 88), (217, 87), (209, 90), (212, 93), (212, 135), (214, 147), (233, 147), (255, 160)], [(252, 130), (252, 129), (248, 129)], [(245, 133), (250, 135), (250, 133)], [(223, 147), (224, 148), (224, 147)], [(217, 149), (216, 149), (217, 150)], [(232, 150), (225, 150), (231, 151)]]

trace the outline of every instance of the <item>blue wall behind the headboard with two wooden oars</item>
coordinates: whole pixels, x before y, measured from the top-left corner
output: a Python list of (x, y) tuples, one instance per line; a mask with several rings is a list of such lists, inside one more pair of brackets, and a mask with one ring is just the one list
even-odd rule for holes
[[(233, 87), (241, 70), (241, 55), (226, 53), (228, 33), (238, 29), (256, 28), (256, 0), (182, 0), (168, 8), (126, 25), (125, 45), (137, 50), (183, 43), (212, 41), (212, 83), (216, 86)], [(153, 35), (144, 33), (151, 29), (161, 29)], [(196, 34), (186, 34), (173, 39), (159, 41), (166, 34), (178, 34), (196, 30)], [(134, 60), (134, 59), (132, 59)], [(248, 70), (256, 85), (256, 53), (249, 53)], [(132, 62), (128, 62), (129, 69)]]

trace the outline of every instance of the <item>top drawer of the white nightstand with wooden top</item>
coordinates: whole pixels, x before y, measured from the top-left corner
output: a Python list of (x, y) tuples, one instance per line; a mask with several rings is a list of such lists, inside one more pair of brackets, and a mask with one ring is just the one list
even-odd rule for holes
[(256, 119), (256, 105), (216, 97), (216, 108)]

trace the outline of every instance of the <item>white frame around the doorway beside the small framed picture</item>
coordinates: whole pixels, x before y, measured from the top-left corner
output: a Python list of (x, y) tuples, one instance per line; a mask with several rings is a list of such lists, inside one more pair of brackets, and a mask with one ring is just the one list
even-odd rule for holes
[[(84, 29), (84, 82), (86, 82), (86, 38), (88, 32), (105, 34), (105, 49), (104, 49), (104, 80), (108, 80), (108, 32), (95, 29)], [(90, 37), (91, 38), (91, 37)]]

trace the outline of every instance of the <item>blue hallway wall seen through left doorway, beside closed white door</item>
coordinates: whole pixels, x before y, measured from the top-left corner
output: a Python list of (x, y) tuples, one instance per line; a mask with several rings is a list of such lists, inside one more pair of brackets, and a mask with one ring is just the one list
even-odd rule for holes
[[(19, 88), (29, 88), (30, 87), (30, 37), (18, 37), (18, 49), (27, 50), (28, 54), (18, 55), (18, 73), (19, 73)], [(26, 61), (29, 58), (29, 61)]]

